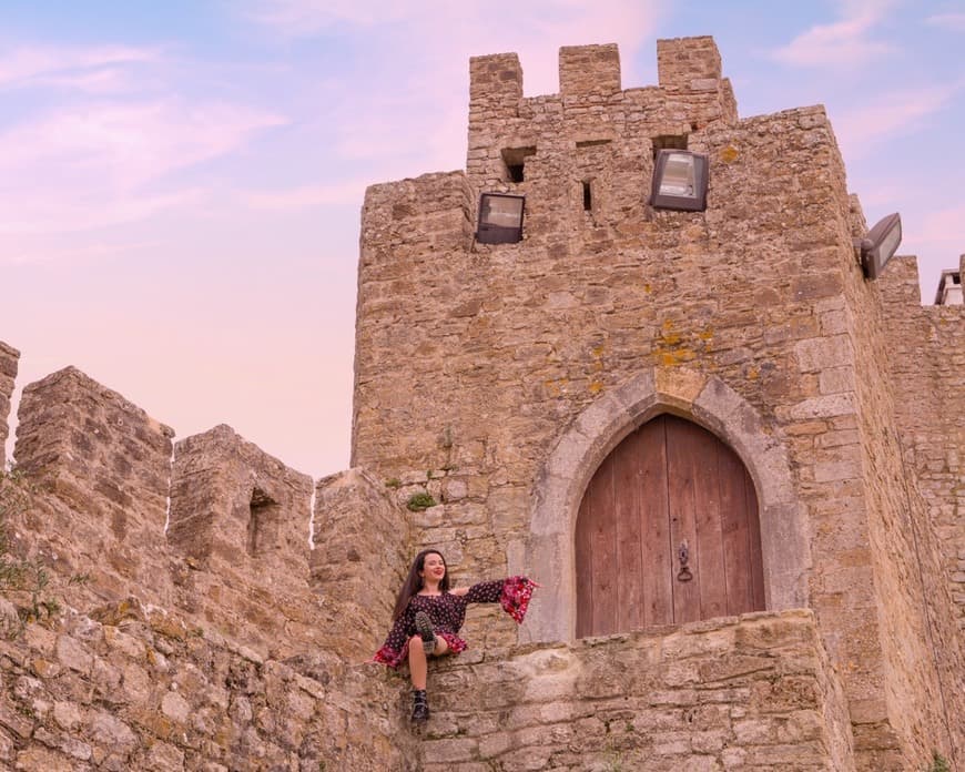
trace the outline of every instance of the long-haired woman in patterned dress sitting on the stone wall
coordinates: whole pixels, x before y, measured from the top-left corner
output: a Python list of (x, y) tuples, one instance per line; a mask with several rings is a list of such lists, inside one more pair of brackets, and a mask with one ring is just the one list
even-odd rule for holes
[(457, 634), (466, 619), (466, 606), (499, 602), (519, 623), (526, 616), (536, 587), (539, 585), (527, 577), (509, 577), (450, 591), (449, 573), (441, 553), (435, 549), (424, 549), (416, 556), (396, 598), (393, 612), (395, 623), (374, 658), (376, 662), (390, 668), (398, 668), (408, 660), (414, 722), (429, 718), (426, 700), (427, 658), (458, 654), (466, 648), (466, 641)]

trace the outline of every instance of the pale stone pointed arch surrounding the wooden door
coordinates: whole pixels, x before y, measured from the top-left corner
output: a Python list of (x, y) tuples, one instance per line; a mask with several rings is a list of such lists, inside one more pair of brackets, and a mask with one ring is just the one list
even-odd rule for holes
[(740, 457), (758, 497), (764, 607), (807, 606), (811, 558), (783, 441), (719, 377), (683, 367), (654, 368), (606, 393), (577, 416), (537, 475), (529, 536), (521, 553), (509, 555), (510, 568), (527, 570), (544, 585), (520, 630), (521, 640), (576, 638), (575, 532), (583, 492), (610, 451), (661, 413), (704, 427)]

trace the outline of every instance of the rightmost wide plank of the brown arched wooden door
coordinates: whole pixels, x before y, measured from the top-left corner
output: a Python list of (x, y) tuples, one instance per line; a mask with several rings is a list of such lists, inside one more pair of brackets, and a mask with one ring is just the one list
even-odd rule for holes
[(728, 447), (722, 448), (719, 466), (721, 527), (728, 590), (727, 613), (745, 613), (753, 610), (751, 537), (745, 486), (748, 473), (741, 459)]

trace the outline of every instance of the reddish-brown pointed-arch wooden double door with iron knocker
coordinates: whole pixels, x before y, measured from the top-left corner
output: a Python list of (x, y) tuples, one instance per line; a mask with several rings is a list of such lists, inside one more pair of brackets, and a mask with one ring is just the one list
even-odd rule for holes
[(577, 637), (764, 608), (754, 486), (737, 454), (662, 415), (603, 460), (576, 527)]

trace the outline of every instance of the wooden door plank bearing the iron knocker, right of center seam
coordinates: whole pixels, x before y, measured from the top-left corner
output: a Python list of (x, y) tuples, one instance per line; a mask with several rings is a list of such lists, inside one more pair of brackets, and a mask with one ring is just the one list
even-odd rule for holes
[[(691, 428), (692, 427), (692, 428)], [(695, 454), (700, 443), (695, 440), (697, 427), (690, 421), (667, 417), (667, 489), (670, 516), (670, 544), (672, 549), (673, 621), (690, 622), (700, 619), (700, 556), (697, 553), (697, 521), (694, 518), (694, 486), (698, 468)], [(679, 559), (680, 548), (689, 551), (690, 581), (682, 581)]]

